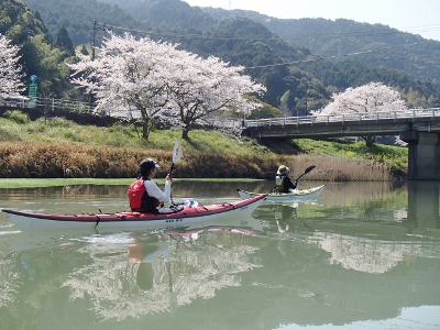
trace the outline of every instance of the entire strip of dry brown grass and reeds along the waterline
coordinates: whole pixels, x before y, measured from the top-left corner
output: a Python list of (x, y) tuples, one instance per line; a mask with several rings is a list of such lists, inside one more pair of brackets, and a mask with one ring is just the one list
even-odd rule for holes
[[(129, 178), (135, 177), (142, 158), (153, 157), (161, 164), (157, 177), (164, 177), (172, 165), (172, 152), (140, 147), (112, 147), (74, 143), (0, 143), (2, 178)], [(317, 167), (307, 179), (389, 180), (389, 168), (382, 163), (324, 155), (243, 155), (186, 153), (177, 164), (180, 178), (273, 178), (279, 164), (290, 167), (297, 177), (310, 166)]]

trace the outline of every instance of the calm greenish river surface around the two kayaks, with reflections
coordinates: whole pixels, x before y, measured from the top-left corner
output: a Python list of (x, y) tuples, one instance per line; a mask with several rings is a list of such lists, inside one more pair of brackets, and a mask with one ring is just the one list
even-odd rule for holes
[[(173, 197), (272, 185), (176, 180)], [(0, 189), (0, 208), (129, 207), (125, 186), (69, 186)], [(439, 183), (331, 183), (204, 228), (25, 233), (0, 212), (3, 330), (439, 329)]]

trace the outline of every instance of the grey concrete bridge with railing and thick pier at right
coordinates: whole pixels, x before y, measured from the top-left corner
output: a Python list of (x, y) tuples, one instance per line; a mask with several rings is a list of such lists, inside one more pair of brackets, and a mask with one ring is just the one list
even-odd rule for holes
[(255, 139), (399, 135), (408, 143), (408, 179), (440, 180), (440, 108), (245, 120)]

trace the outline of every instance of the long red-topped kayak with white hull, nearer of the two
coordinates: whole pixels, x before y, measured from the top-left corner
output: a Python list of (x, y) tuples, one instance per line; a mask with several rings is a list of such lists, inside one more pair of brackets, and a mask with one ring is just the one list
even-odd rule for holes
[(222, 202), (218, 205), (180, 206), (169, 213), (80, 213), (54, 215), (2, 209), (8, 218), (22, 231), (59, 230), (59, 229), (114, 229), (114, 228), (164, 228), (204, 223), (213, 219), (229, 217), (248, 217), (265, 199), (267, 194), (257, 194), (244, 200)]

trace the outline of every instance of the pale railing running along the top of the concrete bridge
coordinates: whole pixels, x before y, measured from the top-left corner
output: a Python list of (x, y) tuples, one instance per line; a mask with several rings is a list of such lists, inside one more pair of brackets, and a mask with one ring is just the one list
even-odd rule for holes
[(258, 128), (258, 127), (271, 127), (271, 125), (276, 125), (276, 127), (300, 125), (300, 124), (312, 124), (317, 122), (343, 123), (343, 122), (366, 121), (366, 120), (380, 121), (389, 119), (427, 118), (427, 117), (440, 117), (440, 108), (244, 120), (244, 128)]

